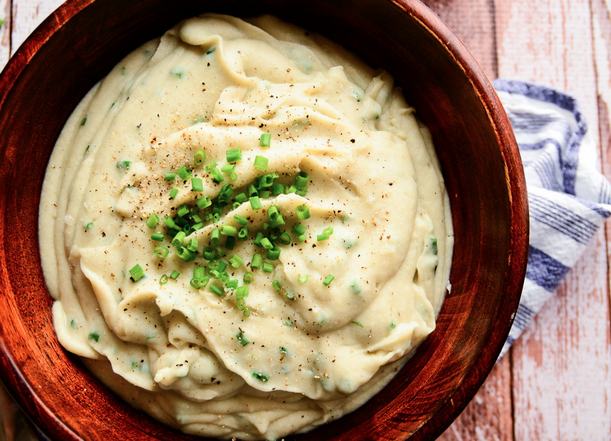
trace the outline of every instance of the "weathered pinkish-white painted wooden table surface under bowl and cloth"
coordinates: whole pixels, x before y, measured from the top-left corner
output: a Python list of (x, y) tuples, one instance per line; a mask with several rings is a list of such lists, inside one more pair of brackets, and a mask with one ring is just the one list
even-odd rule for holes
[[(0, 0), (0, 65), (61, 3)], [(425, 3), (490, 78), (533, 81), (576, 97), (611, 178), (611, 0)], [(611, 439), (609, 234), (607, 223), (441, 440)], [(11, 422), (14, 407), (3, 407), (0, 440), (26, 439)]]

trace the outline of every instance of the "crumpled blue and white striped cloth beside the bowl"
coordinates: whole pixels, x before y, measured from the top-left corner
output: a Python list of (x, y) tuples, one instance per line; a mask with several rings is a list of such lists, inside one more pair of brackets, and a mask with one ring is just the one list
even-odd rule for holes
[(502, 356), (611, 214), (611, 185), (574, 98), (520, 81), (494, 87), (520, 147), (530, 205), (526, 281)]

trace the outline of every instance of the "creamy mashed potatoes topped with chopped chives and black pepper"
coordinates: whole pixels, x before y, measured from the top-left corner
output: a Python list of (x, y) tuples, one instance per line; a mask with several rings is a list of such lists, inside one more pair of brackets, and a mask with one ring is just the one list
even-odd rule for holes
[(200, 435), (353, 410), (448, 283), (428, 131), (387, 74), (272, 17), (193, 18), (119, 63), (66, 124), (40, 212), (62, 345)]

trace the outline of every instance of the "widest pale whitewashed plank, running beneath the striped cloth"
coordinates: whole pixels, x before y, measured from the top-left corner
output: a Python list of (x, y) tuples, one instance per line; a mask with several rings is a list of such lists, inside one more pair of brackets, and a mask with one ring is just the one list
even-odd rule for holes
[[(577, 97), (599, 142), (592, 16), (586, 0), (498, 0), (499, 76)], [(512, 349), (519, 440), (608, 439), (608, 283), (604, 232)]]

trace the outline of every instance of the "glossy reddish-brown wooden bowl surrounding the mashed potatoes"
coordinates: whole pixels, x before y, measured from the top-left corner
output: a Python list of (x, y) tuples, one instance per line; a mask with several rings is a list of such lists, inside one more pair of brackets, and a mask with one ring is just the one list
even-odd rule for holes
[(51, 149), (84, 94), (141, 43), (209, 11), (269, 12), (343, 44), (393, 74), (432, 130), (456, 235), (438, 327), (366, 405), (287, 439), (435, 438), (473, 397), (508, 335), (526, 267), (528, 208), (494, 89), (415, 0), (74, 0), (49, 17), (0, 77), (2, 381), (51, 439), (196, 439), (131, 409), (60, 347), (41, 273), (38, 203)]

